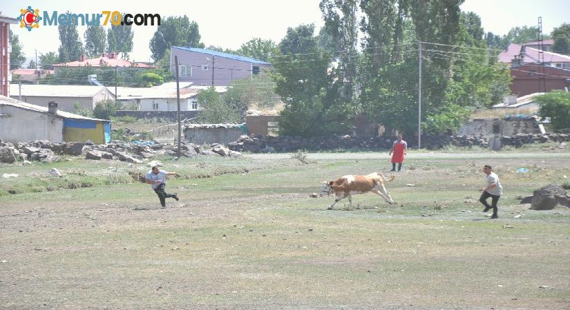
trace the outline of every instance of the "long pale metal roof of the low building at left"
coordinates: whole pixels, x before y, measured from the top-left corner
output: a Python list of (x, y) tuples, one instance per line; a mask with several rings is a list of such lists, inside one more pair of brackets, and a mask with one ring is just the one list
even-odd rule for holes
[[(93, 97), (105, 87), (95, 85), (36, 85), (22, 84), (22, 96), (35, 97)], [(10, 84), (10, 94), (19, 95), (19, 85)], [(112, 94), (112, 93), (111, 93)]]

